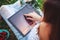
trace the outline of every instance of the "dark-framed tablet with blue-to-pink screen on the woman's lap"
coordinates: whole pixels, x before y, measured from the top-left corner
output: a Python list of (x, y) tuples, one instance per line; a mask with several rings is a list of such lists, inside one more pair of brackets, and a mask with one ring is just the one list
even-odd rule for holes
[(8, 18), (8, 21), (14, 27), (16, 27), (16, 29), (18, 29), (19, 32), (21, 32), (23, 35), (26, 35), (30, 32), (32, 27), (25, 19), (24, 14), (32, 12), (36, 12), (35, 9), (30, 5), (25, 5), (22, 9), (20, 9), (18, 12), (16, 12), (14, 15)]

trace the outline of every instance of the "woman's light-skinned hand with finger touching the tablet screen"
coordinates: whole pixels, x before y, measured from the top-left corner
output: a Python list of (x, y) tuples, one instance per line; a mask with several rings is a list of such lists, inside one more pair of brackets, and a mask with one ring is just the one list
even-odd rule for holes
[(29, 20), (42, 21), (42, 17), (35, 12), (29, 13), (29, 14), (24, 14), (24, 15), (27, 16), (27, 19), (29, 19)]

